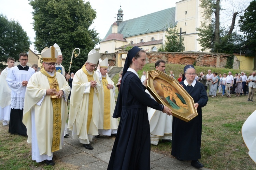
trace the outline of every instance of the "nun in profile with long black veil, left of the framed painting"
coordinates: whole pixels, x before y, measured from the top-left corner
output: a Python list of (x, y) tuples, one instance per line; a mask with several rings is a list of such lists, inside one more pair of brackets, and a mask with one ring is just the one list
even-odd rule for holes
[(144, 50), (133, 47), (128, 51), (113, 114), (114, 118), (120, 117), (120, 122), (108, 170), (149, 170), (150, 125), (147, 107), (171, 115), (167, 106), (151, 99), (145, 92), (146, 81), (141, 84), (137, 71), (142, 70), (145, 61)]

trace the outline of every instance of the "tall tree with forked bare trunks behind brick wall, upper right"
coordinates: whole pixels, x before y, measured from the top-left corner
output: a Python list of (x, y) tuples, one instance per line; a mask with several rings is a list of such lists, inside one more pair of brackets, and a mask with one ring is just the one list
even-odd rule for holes
[[(240, 52), (237, 49), (242, 43), (242, 38), (237, 33), (233, 33), (237, 16), (244, 12), (246, 3), (239, 2), (236, 6), (232, 0), (227, 1), (232, 5), (228, 13), (232, 14), (229, 27), (220, 27), (220, 11), (225, 10), (221, 7), (220, 0), (201, 0), (200, 7), (203, 8), (204, 21), (196, 29), (198, 31), (199, 44), (202, 51), (210, 49), (211, 52), (234, 53)], [(214, 16), (214, 17), (213, 17)], [(213, 17), (213, 18), (212, 18)], [(239, 44), (240, 43), (240, 44)]]

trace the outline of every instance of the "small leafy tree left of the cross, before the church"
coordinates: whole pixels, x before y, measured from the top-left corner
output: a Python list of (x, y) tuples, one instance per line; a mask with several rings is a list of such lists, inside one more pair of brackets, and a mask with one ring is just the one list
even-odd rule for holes
[(185, 50), (184, 38), (178, 36), (177, 26), (172, 26), (167, 29), (165, 38), (165, 46), (158, 48), (158, 51), (169, 51), (169, 52), (182, 52)]

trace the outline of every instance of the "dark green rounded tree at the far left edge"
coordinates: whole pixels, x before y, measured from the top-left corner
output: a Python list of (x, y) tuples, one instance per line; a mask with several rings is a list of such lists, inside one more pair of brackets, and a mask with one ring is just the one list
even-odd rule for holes
[(2, 62), (6, 63), (8, 57), (18, 60), (19, 53), (28, 52), (30, 44), (29, 37), (19, 22), (9, 21), (0, 14), (0, 69), (6, 67)]

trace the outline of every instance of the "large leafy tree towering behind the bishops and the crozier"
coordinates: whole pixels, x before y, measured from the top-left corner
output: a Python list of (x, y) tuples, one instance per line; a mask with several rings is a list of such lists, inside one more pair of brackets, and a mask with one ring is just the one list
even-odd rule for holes
[(80, 69), (90, 50), (100, 42), (98, 33), (89, 29), (96, 18), (96, 11), (83, 0), (30, 0), (33, 7), (35, 47), (42, 51), (57, 43), (64, 57), (62, 65), (67, 69), (74, 48), (81, 53), (73, 58), (71, 70)]

